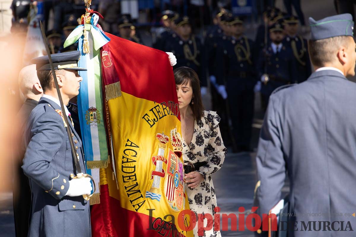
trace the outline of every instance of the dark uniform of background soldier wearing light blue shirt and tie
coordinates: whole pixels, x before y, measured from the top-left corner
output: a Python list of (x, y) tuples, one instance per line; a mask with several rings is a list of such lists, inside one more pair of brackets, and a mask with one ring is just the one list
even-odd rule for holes
[[(265, 64), (267, 71), (265, 71)], [(262, 51), (258, 59), (257, 70), (258, 78), (261, 78), (263, 74), (267, 74), (269, 77), (268, 82), (262, 82), (261, 86), (261, 94), (266, 103), (262, 105), (264, 108), (266, 108), (269, 96), (274, 90), (280, 86), (298, 82), (293, 52), (283, 44), (279, 46), (276, 52), (273, 52), (272, 43), (266, 52)]]

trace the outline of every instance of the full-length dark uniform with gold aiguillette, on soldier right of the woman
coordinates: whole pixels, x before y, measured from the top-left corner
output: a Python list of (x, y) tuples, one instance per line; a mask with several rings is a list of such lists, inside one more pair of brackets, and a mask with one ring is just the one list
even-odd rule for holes
[[(241, 150), (250, 149), (255, 93), (253, 87), (257, 78), (254, 68), (251, 39), (241, 36), (230, 38), (218, 50), (217, 79), (219, 85), (226, 86), (230, 117), (236, 145)], [(220, 56), (221, 55), (221, 56)]]

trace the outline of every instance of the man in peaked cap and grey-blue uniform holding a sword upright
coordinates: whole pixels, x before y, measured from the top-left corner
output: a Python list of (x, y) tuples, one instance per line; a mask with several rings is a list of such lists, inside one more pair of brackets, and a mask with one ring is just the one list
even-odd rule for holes
[[(56, 80), (64, 105), (79, 93), (79, 51), (52, 54)], [(29, 178), (32, 191), (29, 237), (38, 236), (91, 236), (89, 201), (90, 178), (71, 179), (75, 174), (69, 126), (80, 168), (85, 171), (82, 142), (73, 128), (66, 107), (61, 111), (48, 56), (32, 60), (36, 64), (43, 96), (32, 110), (25, 128), (27, 145), (22, 169)], [(69, 124), (64, 123), (68, 116)]]

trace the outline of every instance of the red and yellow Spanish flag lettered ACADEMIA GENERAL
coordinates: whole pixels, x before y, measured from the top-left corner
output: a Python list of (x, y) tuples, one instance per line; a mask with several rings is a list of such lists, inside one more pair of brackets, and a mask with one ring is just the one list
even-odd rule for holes
[(193, 236), (176, 85), (168, 55), (106, 33), (101, 48), (114, 159), (100, 171), (93, 237)]

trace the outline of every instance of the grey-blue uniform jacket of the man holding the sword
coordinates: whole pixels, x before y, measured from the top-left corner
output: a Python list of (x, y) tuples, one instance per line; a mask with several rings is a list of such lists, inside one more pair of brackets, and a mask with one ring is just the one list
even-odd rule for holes
[[(61, 108), (42, 97), (25, 129), (28, 145), (22, 169), (30, 180), (33, 195), (28, 236), (88, 237), (91, 236), (89, 202), (82, 196), (65, 196), (70, 174), (74, 173), (74, 161), (63, 119), (56, 109)], [(82, 142), (70, 122), (68, 126), (80, 167), (85, 172)]]

